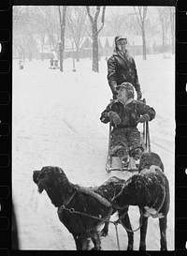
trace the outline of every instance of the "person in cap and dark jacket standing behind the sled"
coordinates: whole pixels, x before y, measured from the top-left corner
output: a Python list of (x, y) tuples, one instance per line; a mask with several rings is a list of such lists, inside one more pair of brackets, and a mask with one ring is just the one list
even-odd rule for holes
[(142, 98), (140, 83), (137, 77), (137, 67), (135, 60), (129, 55), (126, 49), (127, 38), (115, 37), (115, 49), (108, 59), (108, 84), (113, 94), (113, 99), (117, 98), (116, 87), (123, 82), (133, 84), (137, 91), (137, 100)]

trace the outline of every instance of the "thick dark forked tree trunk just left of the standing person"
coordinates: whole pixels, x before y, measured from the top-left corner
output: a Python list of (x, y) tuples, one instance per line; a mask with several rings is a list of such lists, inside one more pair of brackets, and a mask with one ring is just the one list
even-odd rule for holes
[(86, 7), (87, 9), (87, 13), (88, 13), (88, 17), (90, 19), (91, 25), (92, 25), (92, 38), (93, 38), (93, 71), (94, 72), (99, 72), (99, 51), (98, 51), (98, 34), (101, 31), (101, 29), (104, 26), (105, 23), (105, 11), (106, 11), (106, 7), (103, 7), (102, 9), (102, 14), (101, 14), (101, 26), (98, 29), (98, 24), (97, 24), (97, 20), (101, 11), (101, 7), (97, 6), (96, 7), (96, 11), (94, 13), (94, 15), (91, 15), (91, 11), (90, 11), (90, 7)]

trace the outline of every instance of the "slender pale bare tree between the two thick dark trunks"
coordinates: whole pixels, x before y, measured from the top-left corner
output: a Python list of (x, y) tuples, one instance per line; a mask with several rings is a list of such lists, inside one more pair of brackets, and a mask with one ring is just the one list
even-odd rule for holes
[(79, 61), (79, 44), (85, 34), (86, 9), (84, 7), (72, 7), (69, 10), (67, 13), (67, 23), (76, 44), (76, 58)]

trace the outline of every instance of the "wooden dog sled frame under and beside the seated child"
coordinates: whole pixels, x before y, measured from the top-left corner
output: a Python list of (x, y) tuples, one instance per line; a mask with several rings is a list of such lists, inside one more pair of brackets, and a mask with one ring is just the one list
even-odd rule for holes
[[(143, 103), (146, 103), (145, 98), (142, 100)], [(106, 171), (110, 173), (112, 171), (127, 171), (130, 173), (138, 172), (139, 159), (128, 158), (127, 162), (123, 162), (122, 158), (116, 156), (112, 153), (111, 150), (111, 135), (112, 134), (112, 126), (109, 123), (109, 135), (108, 135), (108, 157), (106, 163)], [(143, 153), (151, 152), (151, 141), (150, 141), (150, 129), (149, 122), (142, 124), (142, 130), (140, 130), (140, 146), (143, 149)]]

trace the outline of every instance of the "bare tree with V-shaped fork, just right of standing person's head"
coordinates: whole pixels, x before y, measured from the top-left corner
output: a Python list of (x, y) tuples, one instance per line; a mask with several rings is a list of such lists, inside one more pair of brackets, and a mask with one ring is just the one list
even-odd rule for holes
[(146, 60), (146, 32), (145, 32), (145, 20), (147, 15), (147, 7), (137, 7), (135, 8), (135, 13), (137, 15), (137, 21), (141, 28), (142, 43), (143, 43), (143, 59)]

